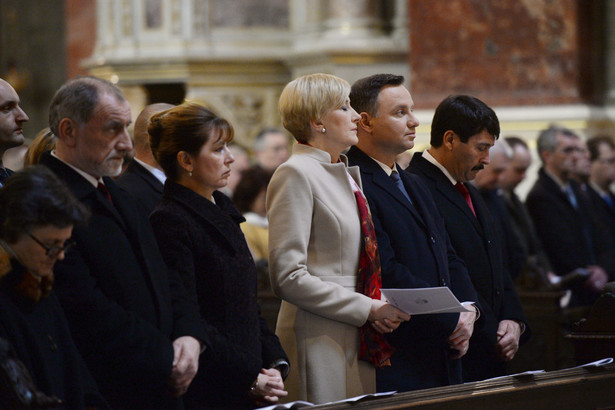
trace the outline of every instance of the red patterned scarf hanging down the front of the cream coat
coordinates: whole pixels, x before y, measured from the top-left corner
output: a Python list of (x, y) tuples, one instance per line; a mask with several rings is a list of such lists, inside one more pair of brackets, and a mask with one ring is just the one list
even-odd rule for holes
[[(382, 288), (382, 276), (380, 272), (380, 256), (378, 255), (378, 242), (376, 230), (367, 206), (367, 200), (361, 191), (354, 191), (359, 207), (361, 219), (361, 253), (359, 254), (359, 273), (357, 279), (357, 291), (372, 299), (380, 299)], [(384, 336), (378, 333), (369, 323), (365, 323), (359, 329), (361, 347), (359, 359), (372, 363), (376, 367), (391, 365), (393, 347), (386, 341)]]

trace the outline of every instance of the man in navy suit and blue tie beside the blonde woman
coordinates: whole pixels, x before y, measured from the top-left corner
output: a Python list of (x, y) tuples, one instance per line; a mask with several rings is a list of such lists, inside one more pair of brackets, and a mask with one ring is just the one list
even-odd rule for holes
[[(358, 80), (350, 100), (361, 115), (359, 143), (347, 156), (361, 170), (378, 237), (384, 288), (448, 286), (461, 301), (478, 297), (446, 234), (429, 190), (395, 157), (414, 146), (418, 120), (404, 77)], [(378, 391), (407, 391), (461, 383), (461, 362), (477, 318), (472, 312), (414, 316), (389, 335), (391, 366), (376, 370)]]

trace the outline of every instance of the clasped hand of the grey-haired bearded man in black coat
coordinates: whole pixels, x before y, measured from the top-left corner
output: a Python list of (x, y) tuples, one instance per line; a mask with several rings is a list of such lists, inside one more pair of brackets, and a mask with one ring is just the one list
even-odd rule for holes
[(192, 379), (199, 369), (201, 342), (192, 336), (182, 336), (173, 342), (173, 369), (169, 377), (169, 387), (174, 396), (186, 393)]

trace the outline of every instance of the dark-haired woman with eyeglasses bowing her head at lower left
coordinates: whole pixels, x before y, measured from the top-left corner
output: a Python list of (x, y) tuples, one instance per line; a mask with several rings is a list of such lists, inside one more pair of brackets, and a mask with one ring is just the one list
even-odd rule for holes
[(14, 174), (0, 189), (0, 337), (10, 342), (34, 385), (61, 400), (57, 408), (108, 408), (52, 291), (53, 266), (72, 244), (73, 225), (87, 214), (42, 166)]

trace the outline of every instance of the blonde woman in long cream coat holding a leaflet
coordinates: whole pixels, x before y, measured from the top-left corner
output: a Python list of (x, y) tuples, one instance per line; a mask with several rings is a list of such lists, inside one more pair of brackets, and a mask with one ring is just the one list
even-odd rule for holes
[[(284, 127), (299, 142), (267, 190), (269, 268), (282, 298), (276, 333), (291, 362), (288, 400), (324, 403), (376, 391), (359, 361), (359, 328), (392, 332), (404, 312), (356, 292), (361, 228), (359, 169), (342, 151), (357, 143), (350, 85), (312, 74), (280, 96)], [(353, 187), (354, 186), (354, 187)]]

